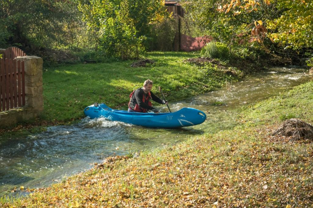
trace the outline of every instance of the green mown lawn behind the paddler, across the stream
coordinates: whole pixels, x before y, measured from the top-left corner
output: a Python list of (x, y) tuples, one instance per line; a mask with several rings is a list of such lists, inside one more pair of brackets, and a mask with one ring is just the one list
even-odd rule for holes
[(69, 121), (84, 117), (85, 107), (104, 102), (111, 108), (127, 109), (129, 94), (142, 87), (146, 79), (158, 86), (169, 102), (182, 100), (236, 80), (217, 67), (189, 65), (183, 60), (197, 57), (186, 52), (151, 52), (146, 58), (156, 62), (149, 67), (131, 67), (133, 61), (65, 65), (44, 69), (44, 112), (41, 118)]

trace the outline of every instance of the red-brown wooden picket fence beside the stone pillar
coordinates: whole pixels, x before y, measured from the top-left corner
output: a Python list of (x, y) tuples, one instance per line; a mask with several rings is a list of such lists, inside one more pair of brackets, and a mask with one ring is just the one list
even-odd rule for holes
[(14, 60), (26, 54), (16, 47), (7, 48), (0, 66), (0, 111), (25, 105), (24, 61)]

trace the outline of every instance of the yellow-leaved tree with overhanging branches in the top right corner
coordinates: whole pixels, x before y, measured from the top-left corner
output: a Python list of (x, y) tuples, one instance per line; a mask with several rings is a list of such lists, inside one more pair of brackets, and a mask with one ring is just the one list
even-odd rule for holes
[[(237, 10), (237, 11), (236, 11)], [(271, 41), (285, 49), (301, 51), (313, 45), (313, 2), (308, 0), (231, 0), (218, 7), (219, 12), (232, 13), (234, 16), (260, 11), (263, 14), (254, 21), (251, 34), (258, 34), (260, 25)], [(263, 20), (263, 21), (262, 21)], [(257, 23), (258, 22), (258, 23)], [(263, 26), (262, 29), (265, 29)], [(265, 34), (264, 33), (264, 34)]]

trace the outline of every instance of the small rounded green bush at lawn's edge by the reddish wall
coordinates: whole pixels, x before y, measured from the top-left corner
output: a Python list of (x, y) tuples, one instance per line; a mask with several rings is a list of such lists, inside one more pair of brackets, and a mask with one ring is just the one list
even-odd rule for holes
[(224, 43), (211, 41), (203, 47), (201, 55), (209, 58), (227, 60), (229, 58), (229, 49)]

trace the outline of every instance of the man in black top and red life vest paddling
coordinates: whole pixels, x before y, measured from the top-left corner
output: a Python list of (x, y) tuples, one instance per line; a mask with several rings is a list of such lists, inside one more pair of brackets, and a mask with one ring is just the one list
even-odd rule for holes
[(151, 92), (152, 84), (151, 80), (146, 80), (142, 88), (134, 90), (129, 95), (131, 99), (128, 103), (128, 112), (146, 113), (151, 110), (156, 114), (159, 113), (157, 109), (152, 107), (150, 99), (160, 104), (168, 104), (167, 100), (161, 100)]

